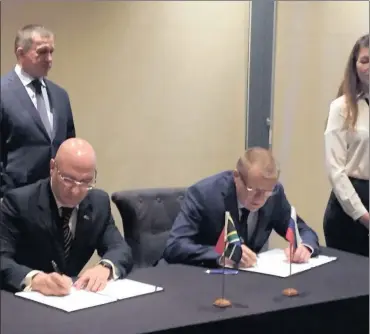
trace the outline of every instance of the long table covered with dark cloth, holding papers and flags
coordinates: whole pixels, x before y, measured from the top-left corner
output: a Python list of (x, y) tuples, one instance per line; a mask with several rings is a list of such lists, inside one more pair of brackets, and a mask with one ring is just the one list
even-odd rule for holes
[[(221, 275), (166, 265), (130, 278), (165, 291), (73, 313), (1, 291), (1, 334), (369, 333), (369, 259), (323, 248), (338, 260), (289, 278), (240, 272), (226, 276), (233, 307), (217, 309)], [(283, 297), (294, 287), (298, 297)], [(273, 332), (272, 332), (273, 331)]]

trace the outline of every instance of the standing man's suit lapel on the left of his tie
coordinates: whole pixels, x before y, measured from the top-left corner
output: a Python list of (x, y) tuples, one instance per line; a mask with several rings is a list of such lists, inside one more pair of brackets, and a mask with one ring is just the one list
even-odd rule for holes
[(35, 108), (35, 105), (29, 97), (26, 88), (23, 86), (22, 81), (15, 72), (13, 72), (13, 76), (9, 79), (9, 88), (10, 92), (14, 94), (15, 100), (19, 100), (39, 130), (46, 136), (47, 139), (49, 139), (49, 135), (44, 124), (42, 123), (38, 110)]

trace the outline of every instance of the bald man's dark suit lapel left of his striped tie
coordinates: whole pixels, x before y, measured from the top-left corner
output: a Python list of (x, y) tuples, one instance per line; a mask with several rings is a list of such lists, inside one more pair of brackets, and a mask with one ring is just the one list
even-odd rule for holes
[(61, 268), (65, 267), (63, 243), (61, 232), (58, 228), (59, 213), (50, 188), (50, 181), (42, 181), (38, 199), (39, 214), (38, 219), (41, 226), (50, 235), (50, 242), (55, 250), (56, 257), (53, 259)]

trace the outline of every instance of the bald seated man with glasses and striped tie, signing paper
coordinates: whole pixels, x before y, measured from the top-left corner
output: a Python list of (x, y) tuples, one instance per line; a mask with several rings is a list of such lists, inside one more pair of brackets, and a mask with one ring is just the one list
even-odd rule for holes
[[(94, 189), (95, 152), (68, 139), (50, 161), (50, 179), (10, 190), (0, 222), (0, 268), (5, 289), (68, 294), (95, 250), (102, 258), (74, 286), (99, 291), (132, 269), (129, 246), (114, 224), (107, 193)], [(63, 273), (63, 274), (62, 274)]]

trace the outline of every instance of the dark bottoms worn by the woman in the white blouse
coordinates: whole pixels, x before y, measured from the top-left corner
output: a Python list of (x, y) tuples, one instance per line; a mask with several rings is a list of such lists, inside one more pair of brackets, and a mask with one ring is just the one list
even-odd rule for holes
[[(369, 211), (369, 181), (354, 178), (350, 180)], [(325, 210), (324, 235), (328, 247), (369, 256), (369, 230), (343, 211), (333, 192)]]

